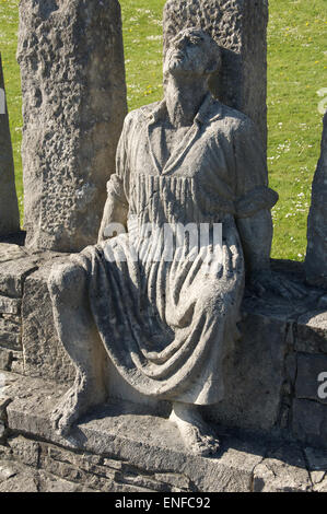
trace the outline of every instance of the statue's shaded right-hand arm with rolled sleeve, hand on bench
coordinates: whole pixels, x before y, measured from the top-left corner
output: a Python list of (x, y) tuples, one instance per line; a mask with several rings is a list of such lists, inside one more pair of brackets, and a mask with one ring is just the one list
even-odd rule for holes
[(249, 120), (234, 139), (236, 170), (236, 224), (242, 241), (247, 280), (258, 294), (270, 291), (284, 297), (301, 297), (303, 289), (270, 268), (271, 208), (277, 192), (268, 187), (268, 171), (259, 136)]

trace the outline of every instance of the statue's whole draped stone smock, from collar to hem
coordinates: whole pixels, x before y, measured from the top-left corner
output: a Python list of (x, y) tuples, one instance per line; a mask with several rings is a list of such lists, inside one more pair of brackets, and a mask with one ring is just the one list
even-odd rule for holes
[[(209, 405), (223, 398), (224, 359), (238, 337), (245, 266), (236, 220), (270, 209), (277, 195), (246, 116), (208, 95), (164, 163), (166, 117), (164, 101), (127, 116), (107, 190), (128, 208), (128, 233), (71, 258), (87, 271), (94, 322), (122, 377), (144, 395)], [(164, 226), (176, 236), (189, 223), (209, 226), (207, 244), (195, 252), (186, 238), (166, 258)], [(219, 223), (220, 264), (208, 267)]]

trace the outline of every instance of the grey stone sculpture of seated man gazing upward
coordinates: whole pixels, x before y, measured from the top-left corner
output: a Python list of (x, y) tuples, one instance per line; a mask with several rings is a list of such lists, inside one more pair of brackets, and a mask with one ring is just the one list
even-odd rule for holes
[[(172, 402), (171, 420), (191, 452), (215, 452), (219, 440), (198, 406), (224, 396), (224, 359), (238, 337), (246, 269), (259, 292), (300, 294), (270, 271), (270, 209), (278, 196), (268, 188), (253, 122), (209, 93), (220, 67), (219, 46), (200, 30), (172, 40), (164, 100), (126, 117), (98, 244), (51, 271), (56, 328), (77, 369), (52, 413), (62, 434), (105, 401), (106, 351), (139, 393)], [(106, 240), (113, 223), (128, 232)], [(222, 224), (219, 267), (209, 269), (206, 260), (211, 235), (197, 254), (188, 242), (165, 258), (163, 227), (176, 236), (176, 226), (189, 223), (209, 234)], [(144, 234), (149, 224), (155, 237)]]

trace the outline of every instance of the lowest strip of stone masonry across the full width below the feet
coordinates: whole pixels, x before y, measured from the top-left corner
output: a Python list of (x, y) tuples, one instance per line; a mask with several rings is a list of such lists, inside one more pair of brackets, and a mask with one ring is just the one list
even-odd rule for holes
[(133, 465), (22, 435), (11, 435), (7, 443), (0, 445), (0, 492), (138, 492), (150, 500), (149, 493), (157, 492), (327, 491), (326, 455), (312, 448), (303, 454), (296, 446), (270, 447), (265, 456), (250, 455), (258, 449), (241, 445), (220, 460), (187, 459), (189, 467), (178, 472), (165, 469), (164, 463), (149, 469), (142, 460)]

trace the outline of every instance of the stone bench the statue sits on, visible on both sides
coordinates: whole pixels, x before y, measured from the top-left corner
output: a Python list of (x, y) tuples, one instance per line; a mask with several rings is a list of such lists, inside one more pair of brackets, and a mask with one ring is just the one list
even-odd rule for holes
[[(47, 290), (52, 264), (65, 259), (65, 254), (30, 254), (23, 246), (0, 244), (1, 370), (58, 384), (73, 379)], [(273, 266), (303, 280), (296, 262)], [(205, 407), (205, 417), (241, 431), (327, 448), (327, 399), (318, 396), (318, 376), (327, 372), (324, 292), (308, 288), (302, 301), (245, 296), (243, 315), (243, 337), (225, 363), (225, 399)], [(167, 412), (166, 404), (133, 392), (109, 361), (108, 384), (114, 399)]]

